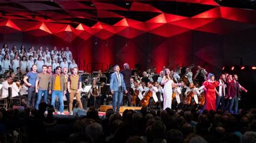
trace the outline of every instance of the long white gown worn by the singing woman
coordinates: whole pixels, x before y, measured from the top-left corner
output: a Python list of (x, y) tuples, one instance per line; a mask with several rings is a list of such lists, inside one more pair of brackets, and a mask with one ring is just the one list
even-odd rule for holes
[(169, 80), (164, 84), (164, 110), (172, 108), (172, 83), (173, 80)]

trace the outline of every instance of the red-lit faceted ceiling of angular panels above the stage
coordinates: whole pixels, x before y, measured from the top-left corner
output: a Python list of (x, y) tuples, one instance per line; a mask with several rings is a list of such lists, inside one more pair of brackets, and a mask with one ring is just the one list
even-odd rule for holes
[(114, 34), (131, 39), (144, 33), (168, 38), (190, 30), (226, 34), (245, 27), (217, 27), (237, 22), (256, 24), (255, 11), (219, 6), (213, 0), (2, 0), (0, 12), (0, 33), (53, 34), (71, 41), (92, 35), (105, 40)]

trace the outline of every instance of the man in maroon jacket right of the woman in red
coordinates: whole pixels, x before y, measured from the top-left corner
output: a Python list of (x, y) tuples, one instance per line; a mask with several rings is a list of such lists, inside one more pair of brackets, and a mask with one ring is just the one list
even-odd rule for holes
[(230, 99), (228, 104), (228, 110), (231, 111), (234, 105), (234, 113), (238, 113), (238, 97), (239, 93), (239, 83), (234, 79), (234, 75), (232, 76), (232, 81), (228, 82), (227, 85), (227, 96)]

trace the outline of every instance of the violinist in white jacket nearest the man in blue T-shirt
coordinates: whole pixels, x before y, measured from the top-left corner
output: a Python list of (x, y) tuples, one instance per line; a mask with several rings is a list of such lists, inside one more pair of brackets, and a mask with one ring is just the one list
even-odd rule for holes
[(19, 95), (22, 85), (18, 82), (18, 77), (14, 77), (14, 81), (11, 84), (11, 97), (21, 98), (22, 105), (26, 106), (26, 96)]

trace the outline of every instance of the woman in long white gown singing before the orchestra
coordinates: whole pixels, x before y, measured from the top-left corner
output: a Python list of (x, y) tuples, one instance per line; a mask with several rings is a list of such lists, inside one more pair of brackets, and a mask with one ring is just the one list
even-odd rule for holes
[(164, 70), (164, 77), (162, 78), (161, 81), (161, 84), (164, 84), (164, 110), (166, 108), (172, 108), (172, 87), (176, 85), (173, 82), (170, 73), (170, 69), (166, 68)]

